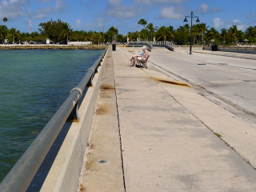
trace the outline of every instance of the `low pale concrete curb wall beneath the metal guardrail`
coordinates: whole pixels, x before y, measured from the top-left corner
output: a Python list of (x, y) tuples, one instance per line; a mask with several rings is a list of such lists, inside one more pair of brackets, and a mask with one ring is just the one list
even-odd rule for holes
[[(107, 53), (109, 52), (110, 49), (107, 50)], [(66, 122), (64, 125), (70, 126), (70, 130), (40, 191), (70, 192), (77, 190), (105, 66), (106, 57), (103, 58), (102, 65), (98, 67), (98, 73), (94, 75), (93, 86), (88, 88), (86, 95), (82, 98), (78, 110), (79, 122)]]

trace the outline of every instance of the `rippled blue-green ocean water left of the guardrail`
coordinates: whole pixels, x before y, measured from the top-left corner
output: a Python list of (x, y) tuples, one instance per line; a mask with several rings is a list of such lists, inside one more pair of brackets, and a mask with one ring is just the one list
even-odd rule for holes
[(0, 182), (103, 50), (0, 50)]

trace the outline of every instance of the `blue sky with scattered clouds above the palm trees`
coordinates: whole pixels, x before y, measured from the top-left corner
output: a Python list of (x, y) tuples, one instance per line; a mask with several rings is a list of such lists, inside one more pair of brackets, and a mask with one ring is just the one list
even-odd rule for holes
[[(30, 10), (33, 32), (51, 18), (69, 23), (73, 30), (106, 32), (115, 26), (119, 34), (126, 34), (143, 29), (138, 25), (141, 18), (154, 26), (177, 29), (186, 24), (184, 18), (191, 11), (218, 31), (234, 25), (243, 31), (256, 26), (256, 0), (30, 0)], [(2, 21), (4, 17), (8, 22)], [(0, 0), (0, 25), (30, 32), (29, 23), (29, 0)]]

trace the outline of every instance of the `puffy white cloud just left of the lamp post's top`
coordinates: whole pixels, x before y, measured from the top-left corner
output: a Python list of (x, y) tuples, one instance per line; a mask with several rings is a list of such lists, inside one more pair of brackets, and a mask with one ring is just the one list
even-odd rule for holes
[(180, 9), (177, 9), (177, 7), (170, 6), (160, 10), (159, 18), (181, 19), (184, 18), (184, 15)]

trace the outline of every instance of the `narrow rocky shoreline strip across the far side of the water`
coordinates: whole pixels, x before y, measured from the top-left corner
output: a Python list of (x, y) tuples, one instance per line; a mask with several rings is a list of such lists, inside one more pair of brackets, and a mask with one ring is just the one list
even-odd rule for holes
[(0, 45), (0, 50), (104, 50), (106, 45)]

